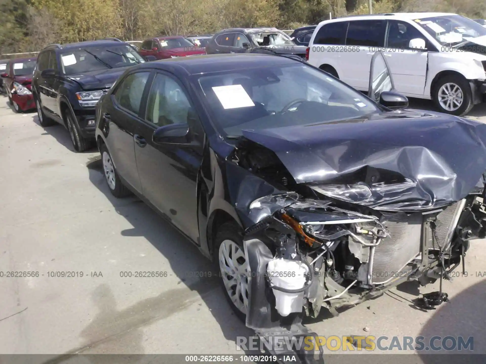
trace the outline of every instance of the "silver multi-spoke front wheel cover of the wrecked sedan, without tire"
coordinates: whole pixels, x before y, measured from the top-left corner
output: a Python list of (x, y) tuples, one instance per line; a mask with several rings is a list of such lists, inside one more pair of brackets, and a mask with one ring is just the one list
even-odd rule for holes
[(233, 304), (246, 314), (248, 307), (248, 268), (242, 248), (224, 240), (219, 247), (219, 266), (226, 293)]

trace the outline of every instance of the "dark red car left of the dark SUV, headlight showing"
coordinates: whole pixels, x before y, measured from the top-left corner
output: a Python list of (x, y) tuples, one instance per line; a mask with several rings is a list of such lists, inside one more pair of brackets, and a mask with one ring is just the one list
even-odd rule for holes
[(35, 109), (31, 83), (36, 61), (37, 58), (12, 59), (1, 74), (10, 105), (17, 113)]

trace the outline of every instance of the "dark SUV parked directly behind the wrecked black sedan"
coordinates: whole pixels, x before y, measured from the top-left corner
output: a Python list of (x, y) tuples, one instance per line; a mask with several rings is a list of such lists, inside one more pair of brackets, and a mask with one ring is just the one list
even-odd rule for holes
[(144, 62), (118, 39), (53, 44), (37, 57), (32, 92), (39, 123), (64, 125), (74, 149), (94, 145), (95, 105), (128, 66)]

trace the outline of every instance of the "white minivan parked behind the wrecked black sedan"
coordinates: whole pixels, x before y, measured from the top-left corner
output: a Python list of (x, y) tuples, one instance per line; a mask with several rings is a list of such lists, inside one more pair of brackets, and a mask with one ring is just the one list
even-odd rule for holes
[(486, 28), (448, 13), (349, 16), (319, 23), (308, 62), (362, 91), (382, 50), (397, 92), (466, 115), (486, 101)]

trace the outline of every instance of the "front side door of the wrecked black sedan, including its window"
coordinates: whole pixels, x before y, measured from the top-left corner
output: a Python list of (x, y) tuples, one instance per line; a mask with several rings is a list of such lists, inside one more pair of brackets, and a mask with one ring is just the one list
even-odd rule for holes
[[(147, 110), (135, 139), (135, 155), (143, 196), (175, 226), (198, 242), (197, 175), (204, 133), (184, 87), (168, 73), (156, 73)], [(187, 142), (156, 144), (157, 128), (188, 125)]]

